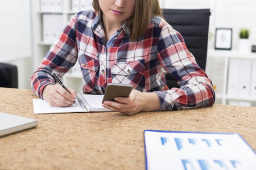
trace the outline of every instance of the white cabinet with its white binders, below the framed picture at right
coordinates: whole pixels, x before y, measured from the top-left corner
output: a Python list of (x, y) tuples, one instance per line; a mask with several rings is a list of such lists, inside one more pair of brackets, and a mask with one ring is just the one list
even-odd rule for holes
[(256, 107), (256, 53), (208, 50), (206, 73), (213, 81), (216, 103)]

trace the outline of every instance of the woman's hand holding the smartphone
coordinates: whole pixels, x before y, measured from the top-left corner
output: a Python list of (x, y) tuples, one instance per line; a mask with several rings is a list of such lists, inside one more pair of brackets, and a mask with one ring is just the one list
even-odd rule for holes
[(159, 111), (160, 101), (154, 92), (132, 90), (129, 97), (115, 97), (115, 101), (104, 101), (103, 107), (115, 112), (132, 115), (141, 111)]

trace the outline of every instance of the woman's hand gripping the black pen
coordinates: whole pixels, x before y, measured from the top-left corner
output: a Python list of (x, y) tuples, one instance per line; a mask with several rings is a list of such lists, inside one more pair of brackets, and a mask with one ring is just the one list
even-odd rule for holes
[(60, 84), (48, 84), (43, 90), (43, 99), (52, 107), (68, 107), (76, 100), (76, 91), (72, 88), (65, 90)]

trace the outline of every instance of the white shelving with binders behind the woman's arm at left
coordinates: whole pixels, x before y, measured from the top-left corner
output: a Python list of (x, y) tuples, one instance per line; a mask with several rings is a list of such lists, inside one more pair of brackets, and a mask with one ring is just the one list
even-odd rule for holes
[[(67, 25), (71, 16), (81, 10), (90, 10), (92, 0), (34, 0), (32, 4), (32, 43), (33, 70), (35, 71), (61, 30)], [(63, 76), (65, 86), (82, 92), (79, 67), (72, 67)]]

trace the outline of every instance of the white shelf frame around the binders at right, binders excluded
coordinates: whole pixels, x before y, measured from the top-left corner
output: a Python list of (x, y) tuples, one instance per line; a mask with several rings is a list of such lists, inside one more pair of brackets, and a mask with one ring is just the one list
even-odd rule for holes
[[(228, 70), (230, 59), (256, 61), (256, 53), (239, 50), (208, 50), (207, 74), (209, 78), (213, 80), (213, 84), (215, 84), (216, 102), (220, 104), (229, 104), (229, 101), (240, 101), (242, 103), (250, 102), (251, 106), (256, 107), (256, 96), (242, 97), (228, 95)], [(216, 83), (214, 83), (214, 80), (216, 80)]]

